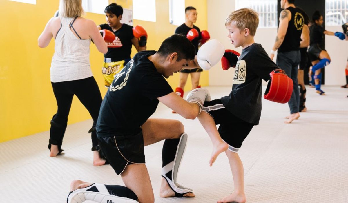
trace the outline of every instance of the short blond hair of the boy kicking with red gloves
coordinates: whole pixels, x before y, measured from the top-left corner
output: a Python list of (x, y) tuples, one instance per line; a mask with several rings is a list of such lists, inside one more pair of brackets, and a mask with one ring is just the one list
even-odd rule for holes
[(239, 31), (248, 28), (250, 35), (255, 36), (259, 25), (259, 14), (250, 8), (241, 8), (233, 11), (226, 19), (225, 26), (235, 23)]

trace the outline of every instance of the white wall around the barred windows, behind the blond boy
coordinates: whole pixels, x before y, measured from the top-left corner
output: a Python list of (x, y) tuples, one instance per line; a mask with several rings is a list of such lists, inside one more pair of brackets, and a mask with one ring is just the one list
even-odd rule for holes
[[(227, 38), (225, 20), (228, 15), (235, 10), (235, 0), (207, 0), (208, 7), (208, 31), (211, 39), (219, 40), (225, 49), (233, 49), (239, 53), (240, 47), (235, 48), (230, 44)], [(326, 26), (326, 30), (332, 32), (342, 32), (340, 26)], [(260, 28), (256, 31), (255, 42), (263, 46), (268, 54), (274, 45), (277, 34), (277, 28)], [(331, 64), (325, 68), (326, 85), (343, 85), (345, 84), (345, 67), (348, 57), (348, 41), (342, 41), (335, 36), (325, 36), (325, 47), (331, 56)], [(276, 61), (275, 56), (274, 61)], [(221, 63), (215, 65), (209, 70), (209, 85), (232, 85), (234, 69), (227, 71), (222, 70)], [(264, 81), (263, 81), (264, 82)]]

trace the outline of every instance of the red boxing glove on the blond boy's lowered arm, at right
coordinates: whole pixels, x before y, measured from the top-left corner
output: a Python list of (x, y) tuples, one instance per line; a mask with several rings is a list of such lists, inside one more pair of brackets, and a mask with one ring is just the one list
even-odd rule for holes
[[(290, 100), (294, 84), (282, 69), (276, 69), (269, 73), (271, 80), (267, 84), (263, 98), (278, 103), (286, 103)], [(297, 88), (297, 87), (296, 87)]]

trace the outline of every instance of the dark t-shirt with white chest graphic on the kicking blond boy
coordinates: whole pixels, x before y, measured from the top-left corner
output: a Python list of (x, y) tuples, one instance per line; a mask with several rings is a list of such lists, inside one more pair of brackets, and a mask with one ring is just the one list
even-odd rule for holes
[(262, 79), (268, 81), (269, 73), (279, 69), (260, 44), (242, 50), (233, 78), (232, 91), (221, 101), (225, 108), (245, 122), (259, 124), (261, 116)]

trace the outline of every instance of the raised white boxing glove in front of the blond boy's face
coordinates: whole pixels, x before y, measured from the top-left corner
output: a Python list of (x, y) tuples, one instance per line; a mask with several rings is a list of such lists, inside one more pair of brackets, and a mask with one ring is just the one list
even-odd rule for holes
[(203, 70), (209, 70), (221, 60), (224, 53), (223, 45), (216, 39), (211, 39), (199, 48), (197, 53), (198, 65)]

